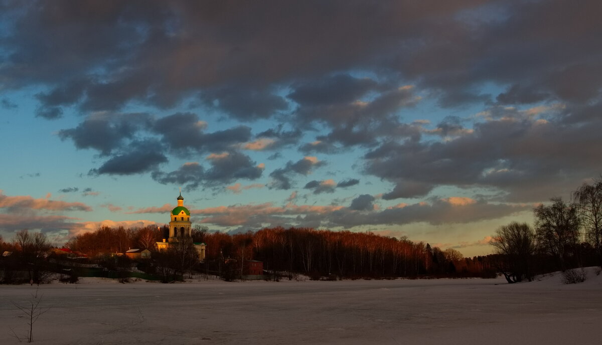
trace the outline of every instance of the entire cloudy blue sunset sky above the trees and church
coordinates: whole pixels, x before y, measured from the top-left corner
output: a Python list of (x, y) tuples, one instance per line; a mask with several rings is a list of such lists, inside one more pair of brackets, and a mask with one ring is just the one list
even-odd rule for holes
[(0, 0), (0, 235), (169, 222), (464, 255), (602, 173), (602, 2)]

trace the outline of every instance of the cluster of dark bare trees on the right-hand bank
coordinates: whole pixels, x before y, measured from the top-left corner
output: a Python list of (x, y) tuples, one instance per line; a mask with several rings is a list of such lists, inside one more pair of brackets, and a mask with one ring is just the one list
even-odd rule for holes
[(491, 241), (500, 257), (497, 267), (508, 282), (532, 280), (539, 273), (563, 272), (565, 282), (585, 280), (579, 267), (602, 266), (602, 179), (533, 210), (535, 222), (512, 222), (495, 231)]

